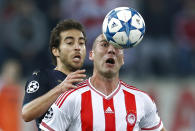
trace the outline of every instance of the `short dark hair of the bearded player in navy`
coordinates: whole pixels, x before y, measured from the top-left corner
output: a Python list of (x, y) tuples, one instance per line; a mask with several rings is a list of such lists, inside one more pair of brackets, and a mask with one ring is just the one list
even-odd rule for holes
[(50, 35), (49, 49), (50, 49), (50, 53), (52, 56), (52, 63), (54, 65), (57, 65), (57, 60), (56, 60), (56, 57), (52, 53), (52, 48), (59, 47), (60, 41), (61, 41), (60, 33), (63, 31), (71, 30), (71, 29), (77, 29), (77, 30), (81, 31), (84, 35), (85, 40), (86, 40), (86, 34), (84, 31), (84, 27), (81, 23), (79, 23), (75, 20), (72, 20), (72, 19), (60, 21), (56, 25), (56, 27), (53, 28), (53, 30), (51, 31), (51, 35)]

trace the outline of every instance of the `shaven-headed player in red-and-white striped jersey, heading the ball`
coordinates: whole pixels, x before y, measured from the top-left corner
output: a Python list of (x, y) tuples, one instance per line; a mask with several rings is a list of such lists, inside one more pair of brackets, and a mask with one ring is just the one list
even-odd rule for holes
[(62, 94), (40, 124), (46, 131), (165, 131), (155, 103), (119, 79), (123, 50), (99, 35), (89, 54), (93, 75)]

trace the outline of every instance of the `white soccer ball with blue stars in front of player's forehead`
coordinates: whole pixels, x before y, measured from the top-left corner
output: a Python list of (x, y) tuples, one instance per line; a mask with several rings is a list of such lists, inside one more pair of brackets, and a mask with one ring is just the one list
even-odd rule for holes
[(145, 33), (145, 22), (133, 8), (118, 7), (111, 10), (102, 25), (106, 40), (117, 48), (131, 48), (139, 44)]

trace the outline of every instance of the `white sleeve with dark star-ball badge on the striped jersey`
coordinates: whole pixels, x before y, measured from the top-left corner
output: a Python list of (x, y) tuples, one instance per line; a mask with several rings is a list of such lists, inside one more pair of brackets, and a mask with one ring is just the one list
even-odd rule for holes
[[(65, 94), (65, 93), (64, 93)], [(62, 96), (56, 100), (63, 100)], [(46, 113), (39, 128), (44, 131), (65, 131), (70, 127), (70, 124), (74, 121), (74, 115), (77, 111), (74, 108), (75, 99), (68, 97), (60, 106), (56, 102)]]

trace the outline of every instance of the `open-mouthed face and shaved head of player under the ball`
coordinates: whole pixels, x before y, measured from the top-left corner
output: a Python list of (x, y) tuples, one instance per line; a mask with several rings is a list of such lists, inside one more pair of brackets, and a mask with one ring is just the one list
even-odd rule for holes
[(90, 59), (94, 62), (94, 70), (106, 77), (118, 75), (124, 64), (123, 50), (108, 43), (103, 35), (98, 36)]

